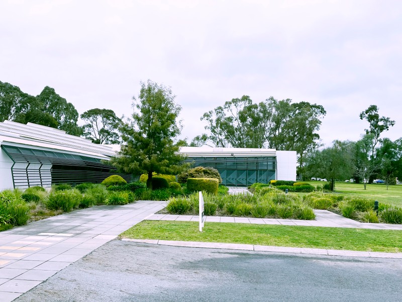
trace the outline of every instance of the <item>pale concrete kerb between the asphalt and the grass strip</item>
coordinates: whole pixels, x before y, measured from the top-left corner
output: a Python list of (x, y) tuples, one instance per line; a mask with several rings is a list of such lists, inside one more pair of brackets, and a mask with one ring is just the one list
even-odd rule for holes
[(271, 253), (402, 259), (402, 253), (381, 253), (381, 252), (364, 252), (364, 251), (347, 251), (347, 250), (330, 250), (330, 249), (327, 250), (327, 249), (313, 249), (313, 248), (275, 247), (275, 246), (261, 246), (261, 245), (234, 244), (234, 243), (128, 239), (128, 238), (123, 238), (122, 241), (175, 246), (175, 247), (187, 247), (187, 248), (227, 249), (227, 250), (243, 250), (243, 251), (271, 252)]

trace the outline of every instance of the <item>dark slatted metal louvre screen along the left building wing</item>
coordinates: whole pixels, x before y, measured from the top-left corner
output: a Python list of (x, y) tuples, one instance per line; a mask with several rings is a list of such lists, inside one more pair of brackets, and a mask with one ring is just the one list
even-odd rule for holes
[(127, 182), (133, 180), (132, 175), (118, 174), (115, 167), (95, 158), (8, 145), (2, 148), (14, 162), (11, 171), (15, 188), (100, 183), (116, 174)]

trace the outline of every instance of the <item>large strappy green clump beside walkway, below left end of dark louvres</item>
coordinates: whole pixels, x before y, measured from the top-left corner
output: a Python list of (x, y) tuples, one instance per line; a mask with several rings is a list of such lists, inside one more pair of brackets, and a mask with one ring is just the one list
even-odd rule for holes
[(81, 199), (82, 194), (76, 189), (52, 190), (44, 200), (44, 204), (51, 210), (61, 209), (70, 212), (74, 207), (78, 207)]

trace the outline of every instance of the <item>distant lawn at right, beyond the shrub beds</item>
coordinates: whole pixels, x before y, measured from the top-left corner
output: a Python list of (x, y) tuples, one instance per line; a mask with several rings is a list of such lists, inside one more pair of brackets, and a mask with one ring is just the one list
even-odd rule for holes
[[(308, 183), (313, 186), (324, 184), (321, 181), (309, 181)], [(363, 184), (337, 182), (335, 183), (335, 193), (359, 195), (402, 207), (402, 185), (388, 186), (387, 190), (384, 184), (368, 184), (364, 190)]]

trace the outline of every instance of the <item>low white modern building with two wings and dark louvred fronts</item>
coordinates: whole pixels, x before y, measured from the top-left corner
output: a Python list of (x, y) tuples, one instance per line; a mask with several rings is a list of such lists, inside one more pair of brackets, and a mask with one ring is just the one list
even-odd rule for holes
[[(98, 183), (117, 174), (104, 161), (120, 146), (94, 144), (65, 131), (33, 123), (0, 123), (0, 190)], [(195, 166), (216, 168), (228, 186), (296, 179), (296, 152), (275, 149), (182, 147)], [(127, 181), (131, 175), (122, 175)]]

